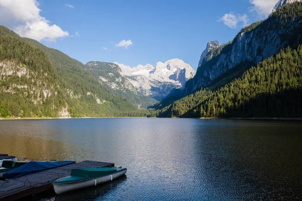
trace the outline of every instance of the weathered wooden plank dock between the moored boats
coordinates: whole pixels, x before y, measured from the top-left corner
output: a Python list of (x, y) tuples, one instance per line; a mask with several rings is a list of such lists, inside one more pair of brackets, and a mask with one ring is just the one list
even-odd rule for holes
[(52, 181), (69, 176), (71, 169), (88, 167), (114, 167), (114, 163), (83, 161), (18, 178), (0, 180), (0, 200), (16, 200), (52, 190)]

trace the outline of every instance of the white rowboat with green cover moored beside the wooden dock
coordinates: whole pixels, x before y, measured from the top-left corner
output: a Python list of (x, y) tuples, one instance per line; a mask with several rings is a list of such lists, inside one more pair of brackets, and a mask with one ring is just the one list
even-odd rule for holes
[(112, 181), (126, 172), (127, 168), (122, 167), (72, 169), (70, 176), (59, 178), (52, 185), (55, 193), (61, 194)]

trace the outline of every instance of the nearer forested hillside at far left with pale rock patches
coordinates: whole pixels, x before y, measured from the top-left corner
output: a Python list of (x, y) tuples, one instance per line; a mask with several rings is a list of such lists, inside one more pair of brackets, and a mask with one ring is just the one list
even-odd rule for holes
[(65, 100), (46, 54), (6, 33), (0, 35), (1, 116), (58, 116)]

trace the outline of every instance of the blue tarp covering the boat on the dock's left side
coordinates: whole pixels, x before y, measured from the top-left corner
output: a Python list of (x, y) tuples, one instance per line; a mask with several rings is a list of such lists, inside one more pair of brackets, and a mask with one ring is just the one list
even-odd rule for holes
[(33, 173), (37, 173), (37, 172), (41, 172), (41, 171), (45, 171), (52, 168), (73, 164), (73, 163), (75, 163), (75, 161), (56, 161), (56, 162), (30, 161), (25, 165), (14, 168), (9, 172), (4, 173), (3, 176), (6, 179), (12, 179), (12, 178), (25, 176), (28, 174), (33, 174)]

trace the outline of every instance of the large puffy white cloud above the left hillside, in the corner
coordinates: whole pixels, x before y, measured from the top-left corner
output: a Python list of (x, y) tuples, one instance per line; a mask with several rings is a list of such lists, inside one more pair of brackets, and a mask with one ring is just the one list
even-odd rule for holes
[(55, 42), (68, 36), (57, 25), (40, 16), (37, 0), (0, 0), (0, 24), (13, 29), (22, 37)]

